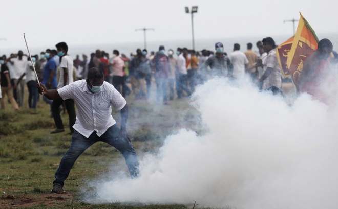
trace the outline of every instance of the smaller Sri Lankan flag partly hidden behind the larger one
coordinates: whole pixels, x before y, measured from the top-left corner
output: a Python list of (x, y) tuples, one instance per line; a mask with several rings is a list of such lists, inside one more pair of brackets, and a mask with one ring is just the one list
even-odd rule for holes
[(276, 49), (277, 60), (278, 60), (279, 66), (282, 69), (284, 78), (290, 77), (290, 71), (289, 71), (289, 68), (287, 67), (286, 60), (291, 50), (293, 39), (294, 39), (294, 36), (287, 39), (284, 43), (281, 43), (280, 45), (278, 45)]

